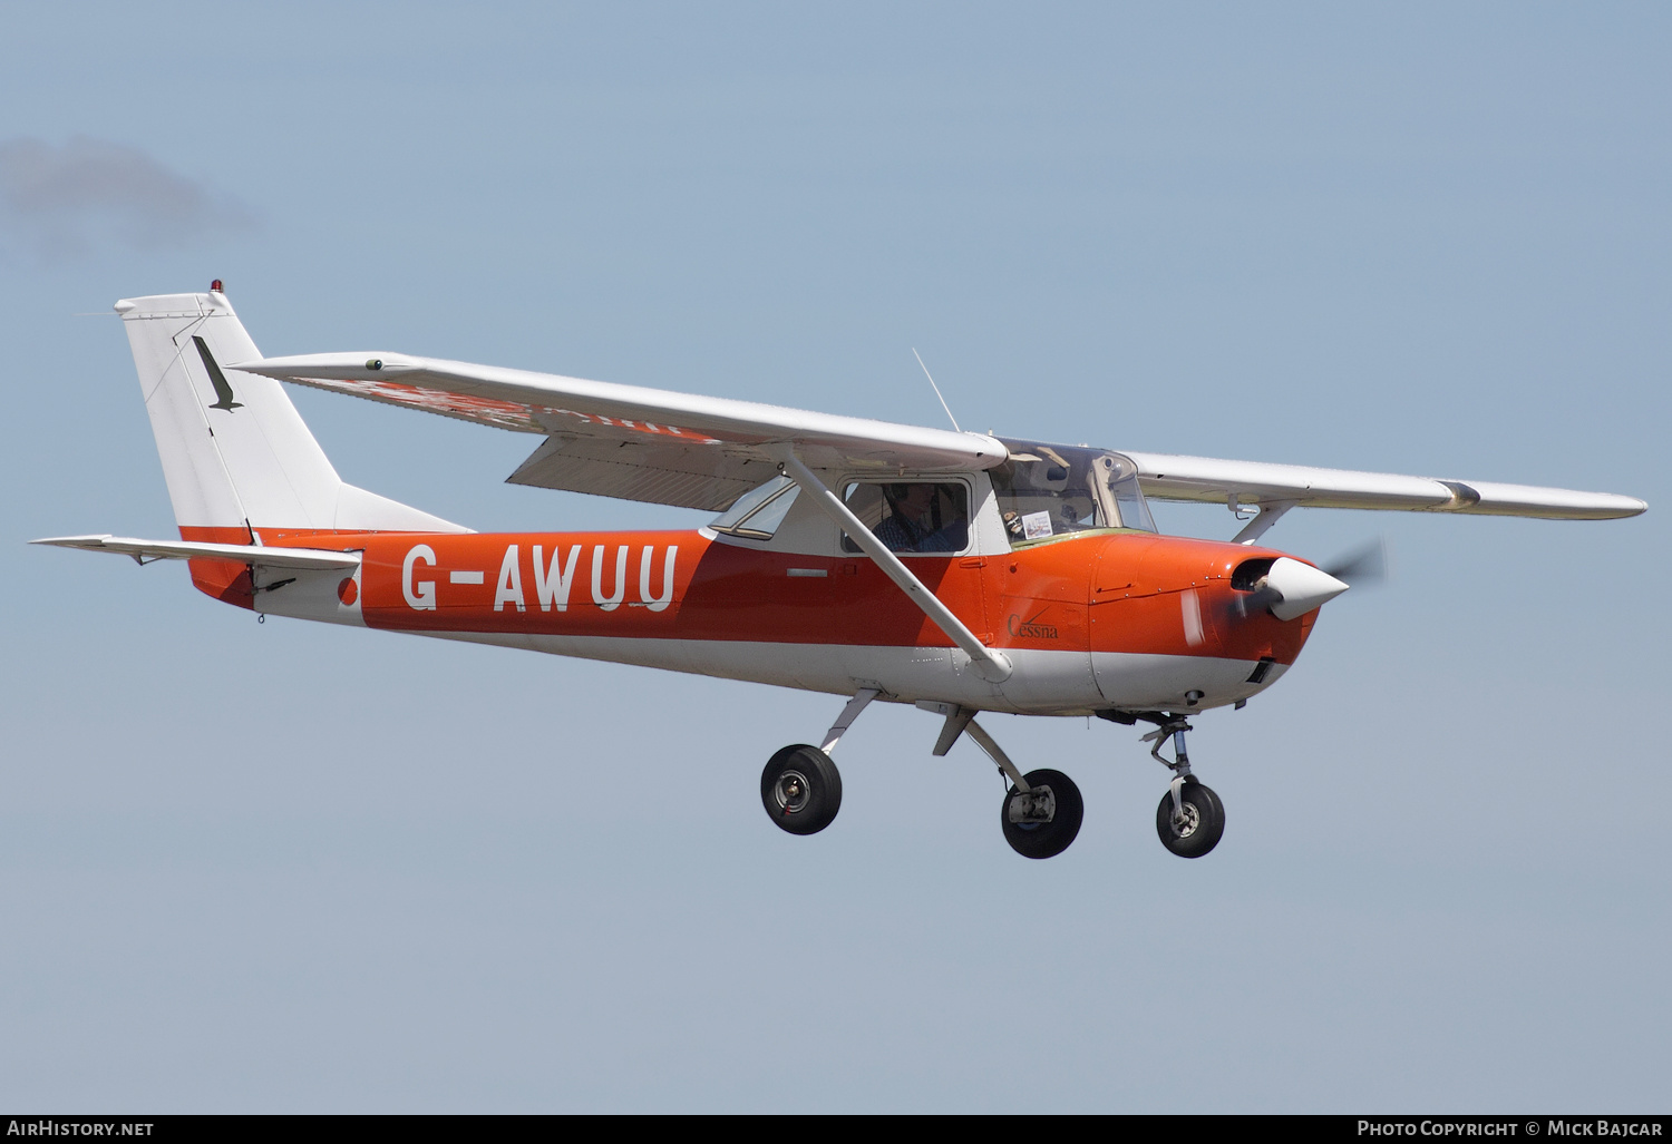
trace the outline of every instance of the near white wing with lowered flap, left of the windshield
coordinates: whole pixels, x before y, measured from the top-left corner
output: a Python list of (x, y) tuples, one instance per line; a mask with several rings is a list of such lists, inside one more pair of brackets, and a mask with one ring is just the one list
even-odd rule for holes
[(719, 511), (779, 473), (793, 444), (813, 469), (986, 469), (995, 438), (403, 354), (234, 362), (318, 389), (545, 434), (508, 481)]

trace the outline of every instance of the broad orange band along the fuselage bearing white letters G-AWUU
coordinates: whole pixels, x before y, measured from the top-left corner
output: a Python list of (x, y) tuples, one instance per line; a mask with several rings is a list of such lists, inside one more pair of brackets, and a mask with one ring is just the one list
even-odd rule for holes
[[(361, 615), (373, 628), (951, 646), (858, 554), (761, 551), (696, 531), (261, 529), (261, 538), (363, 551)], [(1266, 611), (1242, 616), (1241, 593), (1231, 590), (1237, 564), (1279, 554), (1152, 533), (1092, 533), (1005, 556), (908, 556), (906, 564), (990, 646), (1292, 663), (1318, 613), (1287, 623)], [(1194, 630), (1187, 608), (1197, 615)]]

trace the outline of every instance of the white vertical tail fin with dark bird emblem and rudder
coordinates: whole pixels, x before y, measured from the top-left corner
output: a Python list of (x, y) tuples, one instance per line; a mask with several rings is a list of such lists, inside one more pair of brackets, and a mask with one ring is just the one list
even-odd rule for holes
[[(259, 544), (263, 529), (470, 531), (346, 484), (278, 381), (226, 367), (261, 354), (221, 291), (130, 297), (115, 311), (184, 539)], [(206, 583), (212, 569), (199, 568), (212, 563), (192, 561), (192, 580), (227, 600), (231, 585)]]

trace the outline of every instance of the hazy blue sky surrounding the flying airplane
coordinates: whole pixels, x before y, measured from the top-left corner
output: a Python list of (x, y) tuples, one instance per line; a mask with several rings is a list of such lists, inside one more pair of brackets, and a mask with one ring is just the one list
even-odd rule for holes
[[(59, 5), (0, 40), (0, 1104), (62, 1111), (1644, 1111), (1672, 1064), (1659, 5)], [(383, 349), (1112, 448), (1629, 493), (1297, 513), (1394, 576), (1199, 720), (873, 710), (273, 621), (177, 566), (122, 296)], [(298, 392), (482, 529), (525, 438)], [(1231, 536), (1221, 509), (1159, 506)]]

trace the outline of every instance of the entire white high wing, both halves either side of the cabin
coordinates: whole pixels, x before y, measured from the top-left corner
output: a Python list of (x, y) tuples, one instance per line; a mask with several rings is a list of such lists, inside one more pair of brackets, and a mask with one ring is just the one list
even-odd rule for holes
[[(303, 386), (425, 409), (545, 441), (508, 478), (572, 493), (721, 511), (779, 473), (793, 444), (811, 469), (988, 469), (1008, 453), (978, 433), (839, 418), (751, 401), (582, 381), (403, 354), (308, 354), (234, 362)], [(1289, 508), (1358, 508), (1548, 519), (1635, 516), (1630, 496), (1296, 464), (1127, 453), (1145, 496)]]

